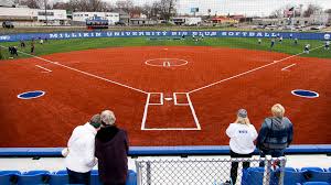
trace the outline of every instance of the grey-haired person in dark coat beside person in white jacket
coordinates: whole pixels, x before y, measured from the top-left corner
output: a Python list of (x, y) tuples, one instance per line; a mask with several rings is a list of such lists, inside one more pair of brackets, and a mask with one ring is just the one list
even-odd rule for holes
[(96, 134), (95, 156), (104, 185), (125, 185), (128, 173), (127, 132), (115, 124), (113, 111), (102, 112), (102, 129)]

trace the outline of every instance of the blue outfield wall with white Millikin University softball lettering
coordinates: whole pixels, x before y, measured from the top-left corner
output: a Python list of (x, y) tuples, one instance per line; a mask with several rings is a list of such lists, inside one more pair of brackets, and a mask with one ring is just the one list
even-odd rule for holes
[(19, 33), (0, 34), (0, 42), (17, 42), (26, 40), (66, 40), (88, 37), (162, 37), (162, 36), (211, 36), (211, 37), (297, 37), (299, 40), (330, 40), (331, 32), (257, 32), (257, 31), (85, 31), (85, 32), (54, 32), (54, 33)]

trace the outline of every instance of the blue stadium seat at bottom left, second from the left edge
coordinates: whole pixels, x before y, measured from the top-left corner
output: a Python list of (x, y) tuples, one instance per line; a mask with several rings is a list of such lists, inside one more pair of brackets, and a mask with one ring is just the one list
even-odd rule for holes
[(49, 182), (49, 171), (30, 171), (19, 175), (18, 185), (46, 184)]

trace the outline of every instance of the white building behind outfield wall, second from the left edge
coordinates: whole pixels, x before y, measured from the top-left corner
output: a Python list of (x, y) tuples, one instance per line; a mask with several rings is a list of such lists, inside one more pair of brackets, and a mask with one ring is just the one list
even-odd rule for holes
[(107, 19), (109, 25), (114, 25), (119, 21), (119, 13), (114, 12), (73, 12), (74, 22), (86, 22), (86, 19), (99, 17), (100, 19)]

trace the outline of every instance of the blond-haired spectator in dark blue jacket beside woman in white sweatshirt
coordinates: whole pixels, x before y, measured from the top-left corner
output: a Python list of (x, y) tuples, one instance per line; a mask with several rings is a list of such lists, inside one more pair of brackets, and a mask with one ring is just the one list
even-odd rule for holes
[[(259, 130), (256, 146), (260, 156), (284, 156), (284, 151), (293, 139), (293, 127), (291, 121), (284, 117), (285, 108), (280, 104), (271, 107), (273, 117), (266, 118)], [(264, 163), (260, 163), (264, 166)]]

